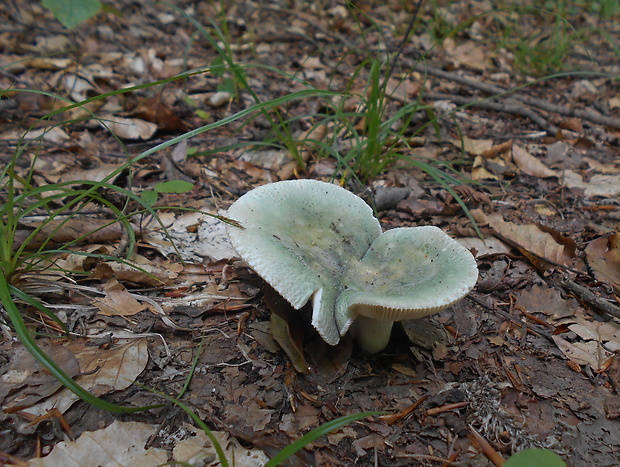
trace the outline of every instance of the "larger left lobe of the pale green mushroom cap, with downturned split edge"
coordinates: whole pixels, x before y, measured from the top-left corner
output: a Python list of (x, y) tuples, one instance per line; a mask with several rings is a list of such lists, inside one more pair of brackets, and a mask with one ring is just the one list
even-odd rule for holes
[(237, 253), (290, 304), (313, 297), (312, 324), (337, 344), (352, 317), (334, 316), (340, 278), (381, 235), (372, 209), (350, 191), (317, 180), (291, 180), (249, 191), (228, 209)]

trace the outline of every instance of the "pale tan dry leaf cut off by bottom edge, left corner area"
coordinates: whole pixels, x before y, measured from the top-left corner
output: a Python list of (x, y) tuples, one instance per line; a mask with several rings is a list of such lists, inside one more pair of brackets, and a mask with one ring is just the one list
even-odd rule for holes
[(87, 431), (75, 441), (61, 442), (43, 458), (28, 462), (31, 467), (118, 467), (163, 465), (168, 453), (145, 448), (157, 427), (115, 420), (103, 430)]

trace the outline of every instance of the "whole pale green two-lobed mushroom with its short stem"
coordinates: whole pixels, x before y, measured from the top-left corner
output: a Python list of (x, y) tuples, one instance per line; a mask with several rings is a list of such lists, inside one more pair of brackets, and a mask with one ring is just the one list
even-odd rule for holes
[(472, 254), (441, 229), (381, 233), (372, 209), (331, 183), (263, 185), (228, 216), (242, 226), (227, 226), (237, 253), (295, 309), (312, 300), (312, 325), (330, 345), (351, 328), (380, 352), (394, 321), (443, 310), (478, 278)]

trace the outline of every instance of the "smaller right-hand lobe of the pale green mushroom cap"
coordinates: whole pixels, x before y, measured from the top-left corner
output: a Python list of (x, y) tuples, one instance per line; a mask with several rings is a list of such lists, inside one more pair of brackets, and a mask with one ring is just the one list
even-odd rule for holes
[[(362, 258), (366, 290), (342, 294), (349, 313), (386, 321), (422, 318), (467, 295), (478, 280), (467, 248), (434, 226), (396, 228)], [(356, 281), (358, 281), (358, 278)]]

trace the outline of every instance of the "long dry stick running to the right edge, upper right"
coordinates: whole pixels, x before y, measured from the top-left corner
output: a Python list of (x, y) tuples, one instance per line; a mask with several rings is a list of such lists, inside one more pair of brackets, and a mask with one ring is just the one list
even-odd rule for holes
[[(426, 65), (424, 63), (421, 63), (421, 62), (410, 62), (410, 65), (413, 67), (414, 70), (419, 71), (420, 73), (426, 73), (429, 75), (436, 76), (438, 78), (447, 79), (449, 81), (454, 81), (455, 83), (464, 84), (466, 86), (472, 87), (479, 91), (486, 92), (487, 94), (505, 95), (505, 94), (513, 94), (516, 92), (515, 90), (506, 90), (494, 84), (483, 83), (481, 81), (475, 80), (473, 78), (469, 78), (467, 76), (461, 76), (456, 73), (451, 73), (449, 71), (440, 70), (439, 68), (435, 68), (435, 67)], [(601, 76), (605, 76), (605, 75), (601, 75)], [(522, 95), (522, 94), (515, 94), (511, 97), (515, 100), (523, 102), (524, 104), (531, 105), (532, 107), (536, 107), (546, 112), (557, 113), (565, 117), (582, 118), (592, 123), (620, 129), (620, 118), (607, 117), (591, 109), (571, 109), (570, 107), (552, 104), (551, 102), (547, 102), (547, 101), (544, 101), (544, 100), (541, 100), (535, 97)]]

